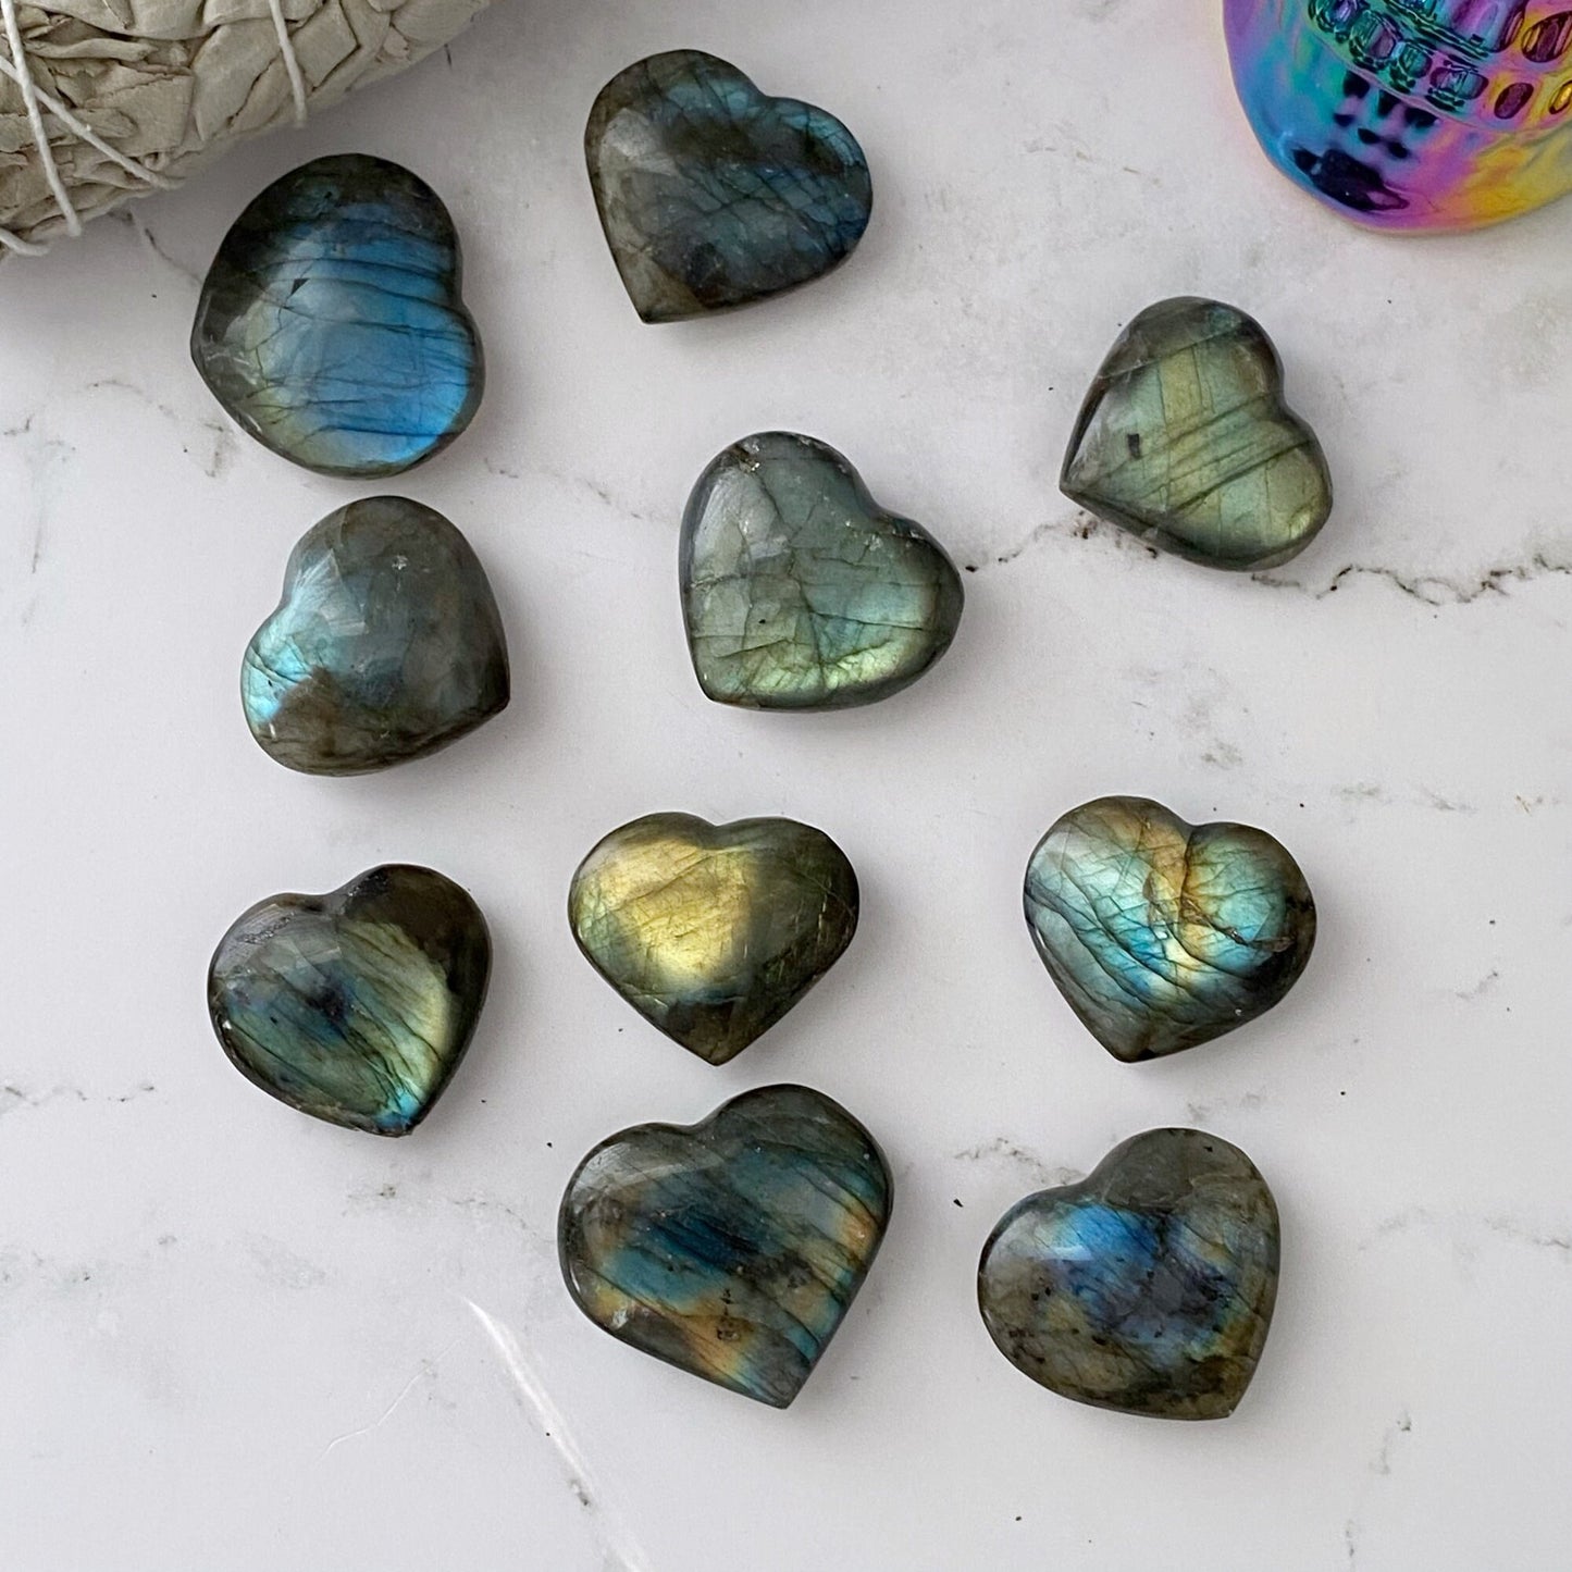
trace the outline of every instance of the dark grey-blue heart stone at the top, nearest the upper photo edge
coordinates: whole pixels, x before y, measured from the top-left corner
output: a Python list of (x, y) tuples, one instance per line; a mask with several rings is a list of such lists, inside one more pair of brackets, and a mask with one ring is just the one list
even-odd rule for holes
[(833, 115), (767, 97), (695, 49), (607, 83), (585, 154), (612, 256), (646, 322), (808, 283), (852, 253), (872, 211), (868, 160)]

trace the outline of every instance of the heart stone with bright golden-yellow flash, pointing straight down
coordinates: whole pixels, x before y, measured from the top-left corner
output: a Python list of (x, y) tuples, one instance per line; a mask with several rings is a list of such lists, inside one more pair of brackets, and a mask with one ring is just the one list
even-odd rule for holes
[(792, 819), (656, 813), (613, 830), (567, 896), (590, 964), (668, 1038), (725, 1064), (769, 1031), (857, 932), (857, 874)]

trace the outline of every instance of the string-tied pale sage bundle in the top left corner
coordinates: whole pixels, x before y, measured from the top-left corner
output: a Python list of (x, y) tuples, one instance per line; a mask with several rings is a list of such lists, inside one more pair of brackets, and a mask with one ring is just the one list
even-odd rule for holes
[(0, 0), (0, 256), (440, 49), (487, 0)]

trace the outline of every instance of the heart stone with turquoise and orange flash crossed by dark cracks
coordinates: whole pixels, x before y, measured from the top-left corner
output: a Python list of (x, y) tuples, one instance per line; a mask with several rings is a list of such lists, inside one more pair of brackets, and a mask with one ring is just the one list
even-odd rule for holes
[(1298, 981), (1316, 902), (1264, 830), (1144, 797), (1064, 814), (1027, 865), (1027, 923), (1060, 992), (1126, 1063), (1210, 1042)]

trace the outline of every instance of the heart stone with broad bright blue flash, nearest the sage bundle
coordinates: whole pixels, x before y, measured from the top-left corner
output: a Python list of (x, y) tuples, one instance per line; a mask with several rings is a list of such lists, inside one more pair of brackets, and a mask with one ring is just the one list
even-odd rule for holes
[(384, 159), (303, 163), (236, 220), (192, 358), (264, 446), (322, 475), (399, 475), (468, 426), (484, 382), (437, 193)]

